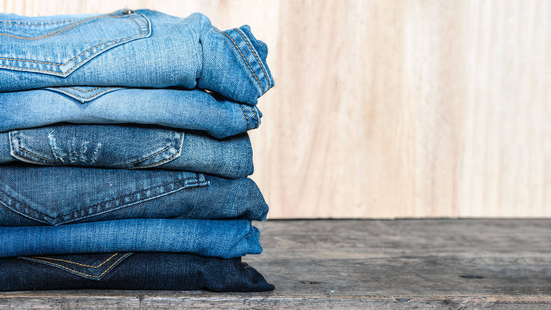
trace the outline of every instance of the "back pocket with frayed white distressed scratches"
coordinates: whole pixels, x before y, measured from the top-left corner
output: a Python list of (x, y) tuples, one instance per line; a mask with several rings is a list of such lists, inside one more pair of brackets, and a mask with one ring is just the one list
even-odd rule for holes
[(10, 131), (9, 142), (24, 162), (149, 168), (178, 158), (183, 136), (159, 126), (62, 124)]

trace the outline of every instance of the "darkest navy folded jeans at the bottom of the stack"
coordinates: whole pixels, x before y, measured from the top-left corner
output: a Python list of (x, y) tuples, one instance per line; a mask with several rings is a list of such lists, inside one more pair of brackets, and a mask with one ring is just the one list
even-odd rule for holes
[(274, 286), (240, 257), (123, 252), (0, 259), (0, 291), (72, 288), (265, 292)]

